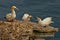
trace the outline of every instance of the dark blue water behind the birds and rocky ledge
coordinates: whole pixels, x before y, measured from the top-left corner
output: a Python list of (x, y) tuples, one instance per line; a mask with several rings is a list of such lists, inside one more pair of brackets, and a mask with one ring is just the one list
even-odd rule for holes
[[(19, 11), (16, 11), (19, 20), (26, 12), (34, 16), (32, 21), (36, 20), (37, 16), (41, 18), (54, 17), (52, 26), (59, 28), (59, 32), (55, 33), (54, 40), (60, 40), (60, 0), (0, 0), (0, 20), (4, 20), (3, 17), (10, 12), (12, 5), (19, 8)], [(48, 38), (47, 40), (53, 39)]]

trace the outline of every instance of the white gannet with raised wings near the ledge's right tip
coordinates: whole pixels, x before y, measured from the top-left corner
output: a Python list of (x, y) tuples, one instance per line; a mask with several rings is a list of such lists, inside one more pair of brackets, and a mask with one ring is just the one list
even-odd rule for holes
[(41, 24), (41, 26), (49, 26), (49, 24), (53, 23), (52, 17), (47, 17), (43, 20), (41, 18), (37, 17), (37, 21), (39, 24)]

